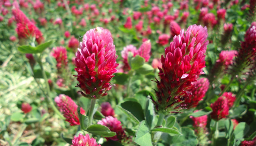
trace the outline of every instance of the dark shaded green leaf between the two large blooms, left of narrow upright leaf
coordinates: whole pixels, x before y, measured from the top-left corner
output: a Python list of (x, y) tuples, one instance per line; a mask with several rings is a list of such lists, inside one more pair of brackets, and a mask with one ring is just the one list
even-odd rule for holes
[(131, 114), (134, 115), (140, 122), (145, 119), (142, 107), (139, 103), (135, 101), (125, 101), (120, 105), (125, 110), (131, 112)]

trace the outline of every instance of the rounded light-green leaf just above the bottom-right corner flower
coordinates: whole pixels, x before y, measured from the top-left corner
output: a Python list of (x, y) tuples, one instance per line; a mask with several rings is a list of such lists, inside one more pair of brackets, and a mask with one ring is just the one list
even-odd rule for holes
[(249, 131), (249, 126), (245, 122), (240, 122), (235, 130), (234, 135), (236, 139), (241, 139), (244, 137), (244, 135)]

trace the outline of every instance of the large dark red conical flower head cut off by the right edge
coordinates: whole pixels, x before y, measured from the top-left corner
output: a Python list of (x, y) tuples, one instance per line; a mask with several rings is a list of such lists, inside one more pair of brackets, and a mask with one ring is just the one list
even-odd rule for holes
[[(251, 27), (245, 33), (244, 42), (241, 43), (235, 63), (232, 66), (231, 74), (236, 76), (245, 68), (254, 68), (256, 58), (256, 22), (252, 22)], [(254, 66), (254, 67), (253, 67)]]

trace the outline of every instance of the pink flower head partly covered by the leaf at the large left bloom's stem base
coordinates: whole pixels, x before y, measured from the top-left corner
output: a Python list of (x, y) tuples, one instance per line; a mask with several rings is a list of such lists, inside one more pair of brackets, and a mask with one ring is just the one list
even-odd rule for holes
[(97, 124), (104, 125), (108, 127), (110, 131), (116, 132), (115, 136), (107, 137), (107, 140), (111, 139), (112, 141), (121, 141), (126, 137), (121, 122), (113, 116), (107, 116), (105, 119), (99, 120)]

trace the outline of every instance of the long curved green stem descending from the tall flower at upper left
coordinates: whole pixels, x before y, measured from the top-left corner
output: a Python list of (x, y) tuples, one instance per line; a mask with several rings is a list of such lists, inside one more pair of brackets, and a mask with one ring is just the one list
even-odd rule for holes
[(52, 98), (50, 97), (50, 86), (49, 86), (49, 84), (48, 84), (48, 79), (47, 79), (47, 76), (46, 76), (44, 67), (43, 67), (43, 65), (42, 65), (41, 58), (40, 58), (40, 57), (38, 58), (37, 55), (35, 55), (35, 58), (36, 58), (36, 60), (37, 60), (37, 62), (38, 62), (38, 64), (39, 64), (39, 66), (40, 66), (40, 68), (41, 68), (42, 75), (43, 75), (44, 80), (45, 80), (46, 91), (47, 91), (47, 95), (48, 95), (48, 96), (46, 96), (46, 97), (47, 97), (47, 99), (48, 99), (48, 101), (49, 101), (49, 103), (50, 103), (50, 105), (51, 105), (53, 111), (56, 112), (56, 114), (59, 115), (61, 119), (65, 119), (65, 118), (63, 117), (63, 115), (61, 115), (60, 111), (56, 108), (56, 106), (55, 106), (54, 103), (53, 103)]

